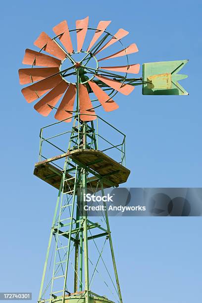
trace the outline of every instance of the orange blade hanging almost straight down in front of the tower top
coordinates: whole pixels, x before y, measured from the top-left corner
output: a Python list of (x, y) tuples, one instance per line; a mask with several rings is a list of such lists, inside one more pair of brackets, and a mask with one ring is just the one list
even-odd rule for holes
[(82, 121), (92, 121), (97, 118), (88, 90), (84, 84), (79, 84), (79, 108)]

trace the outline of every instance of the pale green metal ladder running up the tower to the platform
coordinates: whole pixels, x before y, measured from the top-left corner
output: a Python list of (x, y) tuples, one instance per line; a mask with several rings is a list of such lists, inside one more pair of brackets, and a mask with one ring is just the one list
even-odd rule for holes
[[(60, 190), (58, 198), (60, 200), (59, 206), (59, 214), (57, 219), (55, 220), (55, 224), (52, 227), (52, 232), (55, 237), (55, 252), (54, 252), (54, 260), (53, 260), (53, 269), (52, 269), (52, 279), (51, 279), (51, 288), (50, 288), (50, 303), (51, 300), (55, 299), (56, 296), (63, 296), (63, 300), (65, 297), (65, 293), (68, 293), (66, 288), (67, 282), (67, 272), (68, 272), (68, 265), (69, 265), (69, 255), (70, 255), (70, 246), (72, 242), (74, 242), (75, 238), (72, 237), (72, 229), (73, 225), (76, 224), (76, 220), (74, 219), (74, 206), (76, 200), (76, 191), (77, 191), (77, 182), (78, 182), (78, 167), (76, 166), (75, 169), (75, 176), (66, 178), (66, 171), (68, 170), (68, 161), (69, 158), (65, 159), (63, 174), (60, 183)], [(66, 189), (65, 184), (72, 181), (74, 179), (74, 186), (73, 188)], [(64, 199), (64, 196), (66, 199)], [(71, 199), (69, 199), (71, 197)], [(69, 202), (69, 200), (72, 200)], [(67, 216), (67, 211), (69, 210), (70, 214)], [(63, 228), (67, 228), (68, 230), (61, 231)], [(67, 245), (62, 245), (62, 240), (67, 240)], [(66, 242), (66, 241), (65, 241)], [(61, 256), (61, 252), (62, 256)], [(57, 290), (55, 288), (55, 281), (56, 280), (63, 280), (63, 289)], [(62, 282), (60, 285), (62, 285)]]

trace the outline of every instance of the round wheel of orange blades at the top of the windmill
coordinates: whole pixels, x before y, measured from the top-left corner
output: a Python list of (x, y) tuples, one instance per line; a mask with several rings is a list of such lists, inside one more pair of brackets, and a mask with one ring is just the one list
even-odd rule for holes
[[(92, 121), (97, 117), (96, 107), (102, 106), (106, 112), (113, 111), (119, 107), (114, 96), (118, 92), (129, 95), (134, 90), (134, 86), (127, 83), (126, 75), (139, 72), (140, 64), (128, 64), (128, 55), (137, 52), (138, 48), (136, 44), (131, 44), (123, 49), (120, 40), (128, 32), (119, 29), (114, 36), (111, 35), (106, 31), (110, 22), (100, 21), (93, 29), (88, 28), (89, 17), (77, 20), (76, 29), (72, 30), (77, 38), (77, 51), (73, 50), (71, 30), (66, 20), (53, 27), (56, 37), (51, 39), (45, 32), (40, 34), (34, 42), (40, 51), (25, 50), (23, 64), (31, 67), (19, 69), (19, 79), (20, 84), (30, 85), (22, 89), (22, 94), (29, 103), (37, 100), (34, 108), (40, 114), (49, 115), (58, 103), (55, 119), (70, 122), (75, 113), (82, 121)], [(88, 30), (93, 30), (94, 35), (84, 51)], [(97, 54), (113, 44), (117, 46), (117, 52), (97, 58)], [(126, 65), (99, 66), (102, 60), (120, 56), (126, 56)], [(119, 75), (119, 72), (125, 73), (125, 76)], [(93, 100), (93, 96), (97, 99)]]

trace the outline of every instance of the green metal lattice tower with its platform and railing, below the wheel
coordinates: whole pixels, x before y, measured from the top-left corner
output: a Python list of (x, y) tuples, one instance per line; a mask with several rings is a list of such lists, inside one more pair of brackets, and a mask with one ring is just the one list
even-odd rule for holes
[[(101, 237), (104, 239), (104, 245), (108, 243), (110, 247), (115, 277), (114, 286), (118, 302), (122, 302), (107, 212), (103, 212), (103, 224), (92, 222), (87, 211), (83, 211), (83, 206), (86, 203), (83, 197), (87, 191), (94, 193), (99, 189), (104, 195), (104, 188), (117, 187), (127, 180), (130, 171), (123, 165), (125, 161), (125, 136), (113, 128), (122, 136), (122, 142), (119, 147), (109, 144), (108, 149), (119, 150), (121, 162), (119, 163), (98, 150), (98, 129), (94, 128), (93, 122), (81, 121), (79, 116), (80, 114), (77, 114), (74, 117), (67, 151), (35, 164), (34, 174), (59, 190), (39, 302), (57, 302), (59, 300), (64, 302), (70, 299), (72, 302), (77, 302), (78, 299), (79, 302), (111, 302), (91, 290), (93, 279), (98, 272), (98, 264), (102, 260), (102, 251), (99, 251), (96, 244), (96, 239)], [(103, 121), (99, 117), (97, 119)], [(47, 143), (43, 133), (44, 129), (41, 130), (40, 135), (40, 160), (43, 154), (42, 144)], [(51, 139), (49, 137), (48, 141), (50, 142)], [(57, 161), (61, 159), (64, 159), (63, 169), (56, 166)], [(92, 232), (93, 230), (94, 232)], [(55, 246), (52, 255), (52, 272), (50, 282), (45, 285), (52, 241)], [(98, 250), (98, 260), (94, 269), (91, 270), (91, 276), (89, 272), (89, 262), (91, 262), (88, 249), (89, 241), (94, 242)], [(74, 264), (70, 264), (70, 252), (74, 254)], [(69, 271), (72, 268), (74, 277), (69, 276)], [(50, 298), (45, 297), (45, 299), (44, 293), (47, 293), (48, 289)]]

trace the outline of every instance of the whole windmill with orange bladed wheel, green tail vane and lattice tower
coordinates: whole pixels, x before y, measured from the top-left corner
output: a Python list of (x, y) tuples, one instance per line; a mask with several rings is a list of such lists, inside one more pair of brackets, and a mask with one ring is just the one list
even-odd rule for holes
[[(36, 101), (34, 108), (43, 116), (55, 111), (57, 120), (41, 129), (39, 161), (34, 168), (37, 177), (58, 190), (39, 303), (122, 303), (107, 211), (103, 211), (101, 224), (92, 222), (88, 212), (83, 211), (88, 191), (94, 193), (101, 189), (104, 196), (106, 188), (118, 187), (127, 181), (130, 174), (125, 167), (125, 135), (98, 116), (96, 110), (100, 106), (106, 112), (117, 109), (118, 104), (113, 100), (116, 94), (129, 95), (135, 86), (142, 87), (143, 95), (188, 95), (178, 83), (187, 77), (178, 74), (187, 60), (144, 63), (142, 77), (129, 77), (129, 74), (139, 73), (140, 64), (129, 64), (128, 59), (138, 48), (134, 43), (126, 48), (123, 46), (122, 38), (128, 35), (126, 30), (121, 28), (114, 35), (106, 31), (110, 22), (100, 21), (97, 28), (91, 28), (87, 17), (77, 20), (76, 28), (69, 30), (67, 22), (62, 21), (53, 27), (53, 38), (45, 32), (40, 34), (34, 42), (39, 51), (25, 50), (23, 63), (31, 67), (19, 69), (20, 84), (28, 84), (22, 89), (26, 101)], [(84, 48), (89, 33), (92, 37)], [(73, 35), (77, 39), (76, 50), (73, 49)], [(112, 45), (117, 50), (102, 55)], [(126, 58), (125, 65), (103, 63), (121, 57)], [(72, 119), (69, 131), (66, 122)], [(119, 144), (112, 144), (112, 138), (101, 136), (98, 128), (100, 121), (121, 138)], [(63, 133), (45, 138), (47, 129), (59, 125), (65, 127)], [(62, 150), (52, 140), (64, 135), (68, 135), (69, 139), (67, 142), (65, 137), (63, 143), (66, 148)], [(101, 150), (98, 147), (100, 139), (108, 147)], [(44, 144), (60, 153), (45, 156)], [(120, 158), (107, 155), (108, 151), (118, 151)], [(109, 244), (115, 282), (104, 263), (103, 247), (99, 249), (96, 244), (98, 239), (104, 239), (103, 247)], [(95, 263), (89, 257), (91, 243), (98, 251)], [(94, 278), (99, 273), (98, 265), (102, 261), (115, 289), (113, 301), (92, 291)], [(108, 290), (111, 290), (110, 287)], [(111, 293), (114, 295), (113, 291)]]

